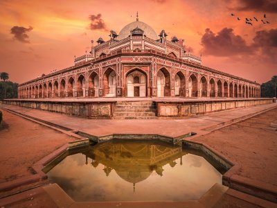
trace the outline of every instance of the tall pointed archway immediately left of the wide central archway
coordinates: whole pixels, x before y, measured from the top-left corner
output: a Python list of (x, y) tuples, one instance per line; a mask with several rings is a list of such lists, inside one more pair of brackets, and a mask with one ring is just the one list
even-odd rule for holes
[(116, 71), (114, 69), (107, 69), (104, 73), (104, 91), (103, 96), (115, 97), (116, 96)]

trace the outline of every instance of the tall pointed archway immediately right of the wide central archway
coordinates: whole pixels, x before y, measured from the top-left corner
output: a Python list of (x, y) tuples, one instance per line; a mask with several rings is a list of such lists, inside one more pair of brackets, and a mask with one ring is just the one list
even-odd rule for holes
[(157, 96), (170, 96), (170, 73), (165, 68), (157, 73)]

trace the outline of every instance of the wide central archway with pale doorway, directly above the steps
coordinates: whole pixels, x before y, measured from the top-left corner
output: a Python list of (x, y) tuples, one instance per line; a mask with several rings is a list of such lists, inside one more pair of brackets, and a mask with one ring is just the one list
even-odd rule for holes
[(145, 97), (146, 96), (145, 73), (141, 70), (134, 70), (127, 75), (127, 97)]

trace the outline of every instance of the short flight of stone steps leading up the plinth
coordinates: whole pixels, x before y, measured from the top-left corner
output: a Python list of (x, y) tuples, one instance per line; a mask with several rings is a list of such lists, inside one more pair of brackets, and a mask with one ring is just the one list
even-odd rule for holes
[(118, 101), (113, 119), (157, 119), (157, 107), (152, 101)]

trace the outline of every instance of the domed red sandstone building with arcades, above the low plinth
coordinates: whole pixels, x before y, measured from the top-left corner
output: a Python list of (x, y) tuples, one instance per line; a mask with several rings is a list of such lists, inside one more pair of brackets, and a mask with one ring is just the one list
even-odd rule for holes
[(74, 66), (19, 85), (18, 97), (260, 97), (258, 83), (202, 66), (184, 41), (158, 37), (139, 19), (109, 36), (91, 41)]

